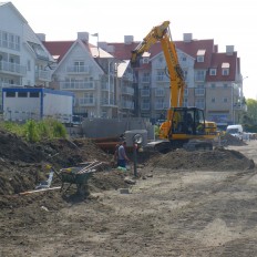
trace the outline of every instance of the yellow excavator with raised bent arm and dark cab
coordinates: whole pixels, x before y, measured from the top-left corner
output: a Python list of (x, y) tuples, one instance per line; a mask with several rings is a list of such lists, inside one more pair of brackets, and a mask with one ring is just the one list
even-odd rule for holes
[(132, 68), (137, 68), (142, 55), (157, 42), (161, 43), (166, 60), (171, 96), (166, 121), (160, 126), (160, 140), (148, 143), (148, 146), (164, 153), (179, 147), (212, 150), (213, 140), (217, 132), (216, 123), (205, 121), (204, 110), (183, 107), (186, 85), (176, 47), (171, 37), (169, 21), (164, 21), (162, 24), (154, 27), (132, 51)]

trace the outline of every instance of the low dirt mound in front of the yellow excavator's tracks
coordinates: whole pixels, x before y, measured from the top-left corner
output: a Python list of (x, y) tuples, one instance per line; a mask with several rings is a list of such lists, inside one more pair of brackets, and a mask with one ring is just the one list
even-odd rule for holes
[(237, 151), (216, 148), (207, 152), (175, 152), (154, 157), (150, 165), (169, 169), (233, 171), (253, 168), (254, 163)]

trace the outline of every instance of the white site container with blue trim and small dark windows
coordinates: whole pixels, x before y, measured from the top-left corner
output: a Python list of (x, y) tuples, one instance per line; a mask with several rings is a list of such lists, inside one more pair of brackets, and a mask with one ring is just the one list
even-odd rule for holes
[[(18, 92), (27, 93), (27, 97), (18, 96)], [(7, 97), (7, 93), (14, 93)], [(31, 96), (38, 93), (38, 96)], [(6, 121), (25, 122), (29, 119), (41, 120), (53, 117), (61, 122), (70, 122), (72, 117), (73, 95), (68, 92), (44, 89), (3, 89), (3, 117)]]

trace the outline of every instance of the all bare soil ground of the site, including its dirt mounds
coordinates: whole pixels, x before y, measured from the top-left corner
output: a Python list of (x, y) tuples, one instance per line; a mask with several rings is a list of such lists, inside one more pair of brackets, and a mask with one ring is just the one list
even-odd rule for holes
[[(112, 156), (90, 140), (30, 145), (1, 131), (0, 256), (257, 256), (256, 148), (251, 141), (138, 154), (134, 178), (133, 164), (112, 168)], [(75, 186), (19, 194), (45, 178), (49, 162), (61, 168), (94, 160), (106, 165), (90, 178), (90, 195)]]

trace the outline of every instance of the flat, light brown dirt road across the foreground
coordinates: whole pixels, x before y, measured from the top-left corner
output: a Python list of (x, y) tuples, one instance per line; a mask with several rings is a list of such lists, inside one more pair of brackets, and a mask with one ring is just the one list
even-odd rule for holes
[[(257, 141), (229, 148), (257, 163)], [(0, 256), (257, 256), (255, 168), (143, 169), (130, 194), (51, 205), (51, 192), (31, 198), (33, 203), (2, 210)]]

